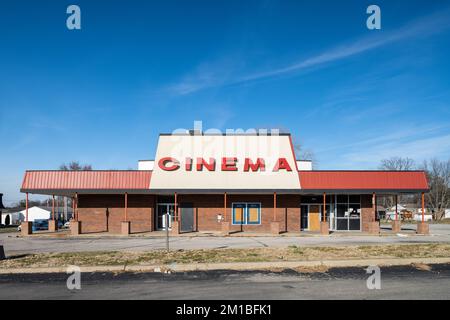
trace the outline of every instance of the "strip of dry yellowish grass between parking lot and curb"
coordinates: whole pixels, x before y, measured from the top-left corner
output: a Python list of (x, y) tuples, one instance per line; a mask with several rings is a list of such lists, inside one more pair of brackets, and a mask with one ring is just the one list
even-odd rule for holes
[(450, 257), (450, 244), (43, 253), (9, 257), (0, 268), (440, 257)]

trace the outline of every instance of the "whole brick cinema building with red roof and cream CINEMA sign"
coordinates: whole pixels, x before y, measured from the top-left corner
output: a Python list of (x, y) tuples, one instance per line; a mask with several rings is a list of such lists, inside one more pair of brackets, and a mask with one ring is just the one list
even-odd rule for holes
[(72, 198), (72, 234), (379, 233), (380, 195), (419, 193), (424, 206), (428, 191), (423, 171), (313, 170), (289, 134), (161, 134), (154, 159), (138, 170), (30, 170), (21, 191)]

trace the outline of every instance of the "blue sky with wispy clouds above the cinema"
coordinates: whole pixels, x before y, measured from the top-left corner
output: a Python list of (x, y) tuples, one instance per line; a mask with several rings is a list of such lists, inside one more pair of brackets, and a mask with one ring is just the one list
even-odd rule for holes
[(71, 160), (136, 168), (194, 120), (288, 128), (319, 169), (448, 159), (449, 57), (444, 0), (2, 1), (0, 192)]

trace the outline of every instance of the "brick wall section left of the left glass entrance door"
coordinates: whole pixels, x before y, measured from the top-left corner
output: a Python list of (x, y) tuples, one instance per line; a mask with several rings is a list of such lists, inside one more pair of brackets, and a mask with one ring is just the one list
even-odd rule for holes
[[(124, 221), (124, 195), (79, 195), (81, 232), (120, 233)], [(153, 231), (155, 196), (128, 195), (127, 215), (131, 233)]]

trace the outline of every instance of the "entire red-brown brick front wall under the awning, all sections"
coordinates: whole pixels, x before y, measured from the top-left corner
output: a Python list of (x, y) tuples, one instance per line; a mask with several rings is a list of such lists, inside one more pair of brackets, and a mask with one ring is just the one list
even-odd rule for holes
[[(218, 214), (224, 214), (224, 196), (218, 195), (178, 195), (178, 203), (190, 202), (194, 206), (196, 231), (220, 231)], [(157, 196), (128, 195), (128, 220), (131, 232), (153, 231)], [(270, 232), (273, 221), (273, 195), (227, 195), (226, 219), (231, 221), (233, 202), (260, 202), (260, 225), (232, 225), (231, 231)], [(276, 220), (282, 231), (300, 231), (300, 195), (278, 195)], [(120, 233), (120, 223), (124, 220), (124, 195), (79, 195), (78, 213), (82, 222), (82, 233)], [(372, 211), (372, 195), (361, 195), (362, 230), (368, 230), (368, 222), (375, 221)]]

